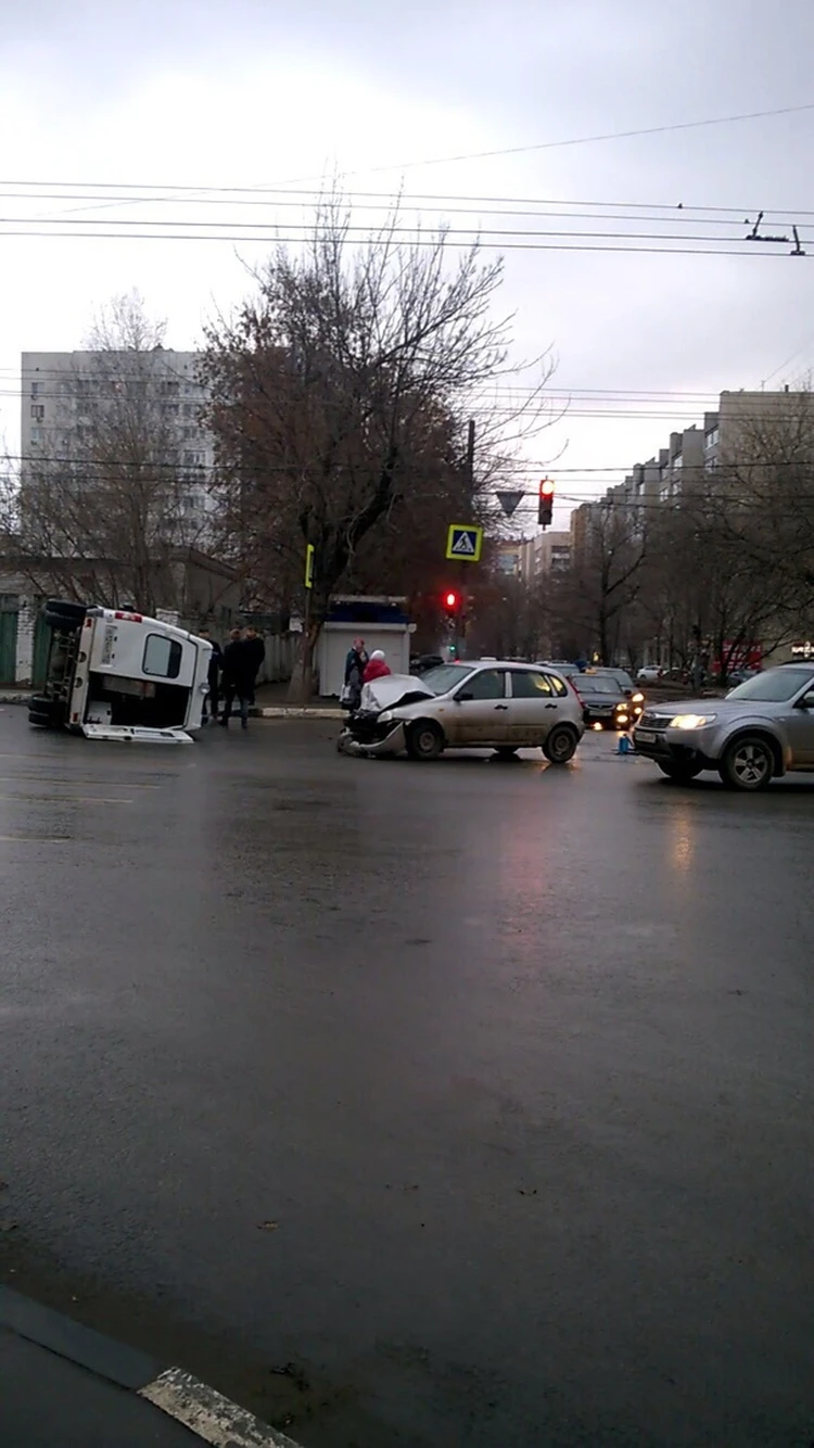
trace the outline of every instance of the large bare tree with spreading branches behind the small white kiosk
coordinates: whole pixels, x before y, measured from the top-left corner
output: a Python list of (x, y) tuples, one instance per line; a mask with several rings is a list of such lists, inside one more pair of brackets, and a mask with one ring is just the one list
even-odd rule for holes
[(355, 246), (329, 200), (306, 253), (278, 251), (258, 294), (209, 329), (225, 546), (278, 598), (314, 550), (297, 692), (336, 588), (394, 576), (374, 566), (377, 547), (379, 562), (388, 540), (408, 555), (417, 531), (458, 521), (462, 497), (475, 507), (494, 449), (466, 468), (468, 401), (505, 366), (508, 327), (491, 314), (501, 274), (477, 246), (453, 264), (443, 232), (401, 245), (395, 216)]

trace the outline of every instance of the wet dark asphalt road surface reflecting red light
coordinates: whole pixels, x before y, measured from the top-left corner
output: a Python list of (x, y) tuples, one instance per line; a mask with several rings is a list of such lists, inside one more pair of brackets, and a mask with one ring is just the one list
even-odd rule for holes
[(814, 779), (332, 733), (0, 714), (4, 1271), (307, 1448), (808, 1448)]

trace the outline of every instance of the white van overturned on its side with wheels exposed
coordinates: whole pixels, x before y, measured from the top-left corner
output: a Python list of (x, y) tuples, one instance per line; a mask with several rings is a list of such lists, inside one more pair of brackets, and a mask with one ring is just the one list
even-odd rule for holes
[(145, 614), (58, 598), (43, 618), (51, 644), (30, 724), (87, 738), (193, 743), (207, 691), (206, 639)]

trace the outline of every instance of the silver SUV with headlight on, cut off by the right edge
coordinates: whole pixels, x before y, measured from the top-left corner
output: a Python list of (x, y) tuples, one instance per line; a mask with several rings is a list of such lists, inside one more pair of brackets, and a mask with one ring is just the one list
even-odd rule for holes
[(724, 699), (659, 704), (633, 743), (678, 782), (716, 769), (733, 789), (765, 789), (786, 770), (814, 770), (814, 663), (766, 669)]

